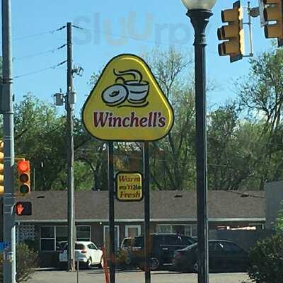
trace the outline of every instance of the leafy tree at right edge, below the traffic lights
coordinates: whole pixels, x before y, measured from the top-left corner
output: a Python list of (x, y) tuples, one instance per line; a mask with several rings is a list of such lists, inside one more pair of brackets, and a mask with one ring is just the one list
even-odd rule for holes
[(254, 163), (261, 189), (265, 182), (283, 177), (282, 67), (283, 50), (273, 47), (270, 52), (250, 59), (250, 74), (238, 87), (241, 107), (262, 128), (255, 139), (261, 153)]

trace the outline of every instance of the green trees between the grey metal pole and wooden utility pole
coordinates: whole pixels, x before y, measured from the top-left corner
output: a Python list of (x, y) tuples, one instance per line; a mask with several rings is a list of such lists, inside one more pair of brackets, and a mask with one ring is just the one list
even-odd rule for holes
[[(66, 178), (65, 119), (53, 105), (28, 93), (15, 105), (15, 152), (30, 160), (35, 190), (63, 189)], [(35, 170), (35, 171), (34, 171)]]

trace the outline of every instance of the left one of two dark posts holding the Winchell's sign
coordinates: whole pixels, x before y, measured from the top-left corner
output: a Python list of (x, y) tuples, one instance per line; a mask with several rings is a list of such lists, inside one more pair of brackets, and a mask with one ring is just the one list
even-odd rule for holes
[(109, 253), (110, 283), (115, 283), (115, 224), (114, 224), (114, 149), (113, 141), (108, 141), (108, 192), (109, 192)]

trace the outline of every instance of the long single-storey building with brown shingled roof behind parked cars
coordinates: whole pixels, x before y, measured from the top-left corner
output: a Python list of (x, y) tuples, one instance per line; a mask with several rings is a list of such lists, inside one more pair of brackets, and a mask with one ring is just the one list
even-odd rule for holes
[[(31, 216), (16, 216), (16, 239), (40, 252), (42, 266), (54, 264), (57, 242), (67, 241), (67, 192), (30, 192), (16, 201), (33, 204)], [(265, 192), (209, 191), (209, 230), (264, 229)], [(108, 192), (81, 191), (75, 194), (76, 238), (108, 245)], [(1, 217), (3, 221), (3, 217)], [(115, 246), (127, 236), (144, 231), (144, 202), (115, 201)], [(0, 237), (3, 236), (0, 224)], [(196, 193), (151, 191), (151, 231), (197, 236)]]

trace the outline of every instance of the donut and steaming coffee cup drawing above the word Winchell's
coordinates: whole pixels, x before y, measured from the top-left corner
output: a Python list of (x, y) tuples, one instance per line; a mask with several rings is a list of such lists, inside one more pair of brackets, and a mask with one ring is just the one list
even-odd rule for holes
[[(104, 103), (110, 107), (146, 107), (149, 104), (146, 97), (149, 95), (149, 82), (143, 81), (142, 74), (138, 70), (116, 71), (115, 84), (109, 86), (102, 93)], [(125, 76), (132, 76), (126, 80)], [(127, 101), (126, 104), (123, 104)]]

